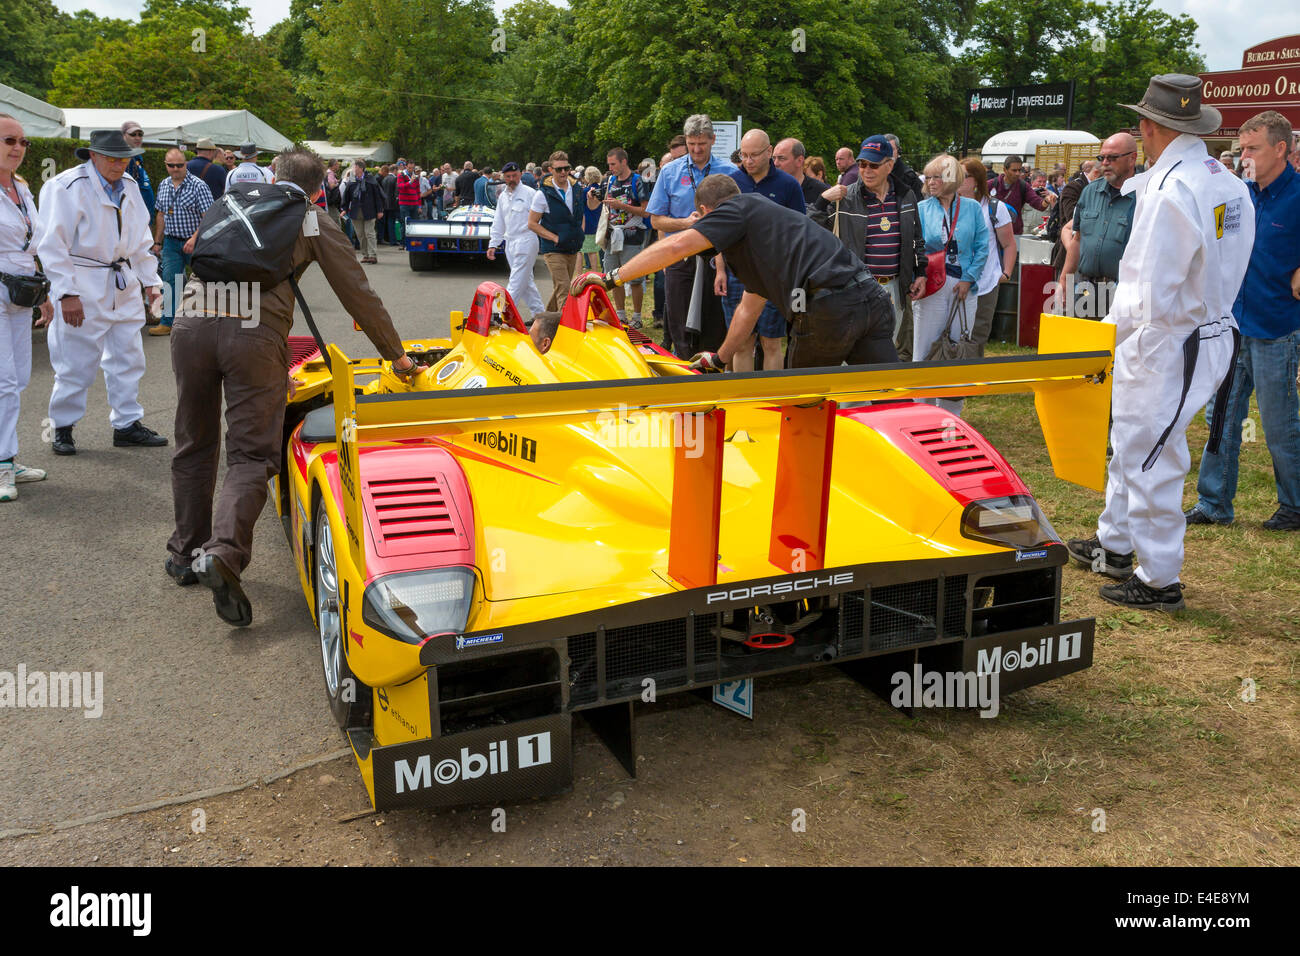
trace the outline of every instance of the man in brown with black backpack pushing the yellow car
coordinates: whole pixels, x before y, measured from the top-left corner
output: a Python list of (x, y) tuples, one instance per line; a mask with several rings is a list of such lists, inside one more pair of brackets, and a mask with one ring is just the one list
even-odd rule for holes
[[(164, 570), (177, 584), (198, 581), (211, 588), (217, 615), (237, 627), (252, 623), (239, 579), (252, 555), (252, 529), (266, 502), (266, 481), (281, 466), (285, 390), (291, 389), (286, 338), (299, 294), (296, 278), (320, 263), (343, 308), (393, 362), (394, 372), (406, 376), (419, 368), (404, 352), (351, 243), (312, 206), (325, 176), (320, 157), (304, 148), (286, 150), (277, 159), (276, 176), (270, 186), (233, 186), (204, 216), (195, 277), (186, 286), (185, 308), (172, 334), (176, 531)], [(244, 222), (257, 224), (257, 237), (248, 234)], [(283, 281), (248, 281), (263, 272), (282, 274)], [(235, 285), (251, 286), (252, 297), (240, 291), (239, 302), (231, 302)], [(213, 507), (222, 393), (229, 467)]]

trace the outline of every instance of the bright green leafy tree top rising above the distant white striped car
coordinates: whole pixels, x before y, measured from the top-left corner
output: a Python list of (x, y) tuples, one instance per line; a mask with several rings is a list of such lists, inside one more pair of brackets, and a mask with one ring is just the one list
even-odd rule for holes
[(335, 142), (389, 139), (432, 160), (481, 139), (495, 26), (488, 0), (322, 4), (303, 34), (320, 72), (299, 88)]

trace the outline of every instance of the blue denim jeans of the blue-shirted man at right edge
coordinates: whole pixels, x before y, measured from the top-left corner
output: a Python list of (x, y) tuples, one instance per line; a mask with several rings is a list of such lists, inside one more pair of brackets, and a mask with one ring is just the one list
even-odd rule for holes
[[(1273, 457), (1273, 476), (1278, 485), (1278, 505), (1300, 514), (1300, 402), (1296, 401), (1296, 365), (1300, 363), (1300, 330), (1282, 338), (1242, 336), (1236, 377), (1227, 399), (1223, 442), (1217, 455), (1201, 457), (1196, 483), (1196, 507), (1216, 522), (1232, 520), (1236, 496), (1238, 454), (1242, 450), (1242, 423), (1251, 411), (1251, 393), (1260, 403), (1260, 420)], [(1210, 424), (1219, 410), (1214, 401), (1205, 406)], [(1253, 431), (1254, 423), (1251, 423)], [(1252, 438), (1253, 441), (1254, 438)]]

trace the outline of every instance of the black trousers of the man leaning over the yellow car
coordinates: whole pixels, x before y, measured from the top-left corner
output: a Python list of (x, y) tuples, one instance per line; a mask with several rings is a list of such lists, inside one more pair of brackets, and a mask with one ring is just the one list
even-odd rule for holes
[(786, 368), (876, 365), (898, 362), (893, 345), (893, 304), (876, 282), (814, 295), (797, 316), (785, 351)]

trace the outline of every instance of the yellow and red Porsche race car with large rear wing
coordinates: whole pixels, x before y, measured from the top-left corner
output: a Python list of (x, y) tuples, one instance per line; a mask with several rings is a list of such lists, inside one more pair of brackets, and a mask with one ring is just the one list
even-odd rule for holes
[(1044, 316), (1037, 356), (722, 376), (601, 289), (546, 354), (495, 284), (451, 329), (406, 343), (429, 364), (411, 382), (292, 342), (273, 499), (376, 808), (560, 792), (575, 714), (634, 773), (633, 704), (658, 695), (832, 662), (1006, 692), (1091, 665), (1030, 490), (911, 399), (1032, 389), (1057, 473), (1100, 488), (1110, 326)]

